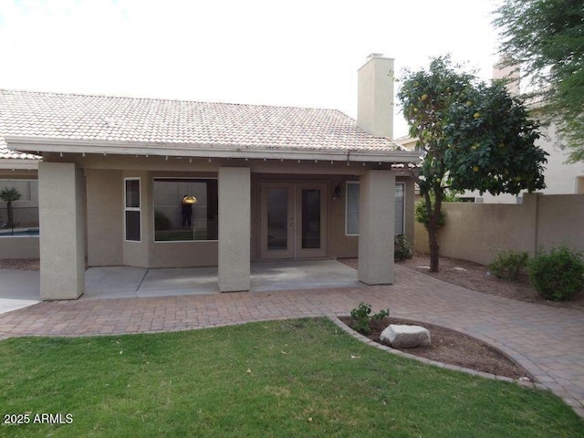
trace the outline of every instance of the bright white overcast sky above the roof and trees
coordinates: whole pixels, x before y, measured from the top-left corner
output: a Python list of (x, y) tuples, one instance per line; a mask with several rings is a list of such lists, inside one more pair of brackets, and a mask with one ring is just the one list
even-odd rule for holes
[[(496, 0), (0, 0), (0, 88), (357, 116), (370, 53), (491, 78)], [(399, 83), (396, 84), (396, 90)], [(407, 134), (395, 107), (394, 138)]]

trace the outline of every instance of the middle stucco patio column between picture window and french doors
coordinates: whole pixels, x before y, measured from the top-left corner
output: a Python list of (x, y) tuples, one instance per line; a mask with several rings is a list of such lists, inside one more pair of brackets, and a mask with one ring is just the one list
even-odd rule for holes
[(250, 170), (219, 169), (219, 290), (249, 290)]

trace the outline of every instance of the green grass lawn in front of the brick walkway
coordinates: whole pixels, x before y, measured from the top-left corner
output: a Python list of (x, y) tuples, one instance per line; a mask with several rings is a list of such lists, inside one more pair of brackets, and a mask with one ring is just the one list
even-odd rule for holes
[(423, 365), (327, 319), (0, 342), (0, 436), (576, 437), (548, 391)]

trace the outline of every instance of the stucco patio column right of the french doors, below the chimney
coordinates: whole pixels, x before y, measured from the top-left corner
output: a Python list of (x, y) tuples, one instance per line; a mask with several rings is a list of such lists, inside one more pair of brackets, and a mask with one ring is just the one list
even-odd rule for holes
[(369, 171), (360, 179), (359, 281), (393, 283), (395, 175)]

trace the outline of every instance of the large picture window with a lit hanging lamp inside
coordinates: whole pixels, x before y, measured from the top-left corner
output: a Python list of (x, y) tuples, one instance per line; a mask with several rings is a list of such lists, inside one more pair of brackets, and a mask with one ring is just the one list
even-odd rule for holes
[(216, 179), (154, 179), (154, 240), (217, 240)]

